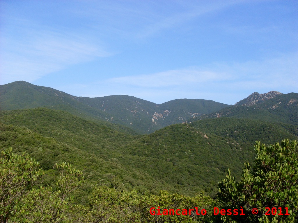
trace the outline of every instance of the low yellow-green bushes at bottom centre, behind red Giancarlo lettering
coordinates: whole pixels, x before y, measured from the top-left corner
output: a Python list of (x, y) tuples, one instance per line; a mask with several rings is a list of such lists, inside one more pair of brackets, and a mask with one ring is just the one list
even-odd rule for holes
[[(77, 206), (73, 209), (72, 215), (75, 222), (160, 222), (160, 223), (194, 223), (206, 222), (211, 214), (211, 208), (214, 205), (212, 198), (205, 196), (203, 193), (195, 197), (187, 197), (179, 194), (170, 194), (167, 191), (160, 191), (159, 195), (141, 195), (136, 190), (117, 191), (114, 188), (105, 186), (97, 187), (89, 197), (89, 206)], [(192, 215), (151, 215), (150, 208), (155, 210), (160, 207), (161, 213), (163, 209), (201, 209), (207, 210), (207, 215), (196, 215), (195, 211)], [(81, 215), (85, 216), (82, 221)], [(157, 210), (156, 210), (157, 213)], [(179, 211), (181, 213), (181, 211)]]

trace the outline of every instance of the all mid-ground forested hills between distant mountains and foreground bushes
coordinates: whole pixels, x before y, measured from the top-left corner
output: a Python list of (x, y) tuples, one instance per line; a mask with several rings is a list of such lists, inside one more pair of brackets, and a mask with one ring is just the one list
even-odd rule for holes
[[(86, 154), (78, 161), (82, 165), (89, 162), (86, 161), (89, 158), (87, 154), (111, 162), (116, 172), (93, 165), (87, 168), (95, 171), (96, 176), (100, 175), (100, 179), (105, 179), (103, 185), (153, 194), (160, 189), (187, 195), (203, 190), (215, 197), (217, 183), (224, 177), (226, 169), (230, 168), (237, 177), (243, 163), (252, 162), (256, 138), (265, 143), (284, 138), (298, 139), (297, 126), (249, 119), (199, 120), (191, 124), (170, 125), (149, 135), (132, 136), (118, 131), (117, 125), (104, 122), (100, 125), (67, 112), (46, 108), (2, 111), (0, 116), (1, 122), (6, 125), (23, 126), (12, 129), (28, 129), (33, 131), (33, 135), (51, 137), (57, 143), (76, 148)], [(2, 131), (1, 134), (5, 136), (1, 138), (2, 143), (5, 142), (4, 147), (18, 148), (15, 140), (10, 140), (13, 137), (11, 131)], [(22, 137), (24, 134), (19, 133), (18, 142), (25, 146), (27, 139)], [(38, 142), (31, 140), (37, 150), (44, 145), (38, 145)], [(42, 159), (32, 156), (41, 162), (44, 170), (51, 169), (55, 162), (69, 162), (70, 159), (53, 159), (52, 155)], [(71, 163), (85, 173), (84, 165)], [(107, 175), (102, 176), (105, 171), (109, 172), (110, 181)], [(125, 171), (138, 174), (131, 175)], [(145, 175), (146, 178), (143, 177)], [(88, 182), (89, 179), (86, 180)], [(90, 182), (92, 185), (99, 183), (96, 180)]]

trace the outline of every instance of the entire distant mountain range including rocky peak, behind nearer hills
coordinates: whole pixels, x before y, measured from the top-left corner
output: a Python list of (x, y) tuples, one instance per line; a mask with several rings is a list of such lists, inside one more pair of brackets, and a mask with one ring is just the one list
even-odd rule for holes
[(129, 95), (77, 97), (26, 81), (0, 86), (0, 110), (46, 107), (92, 121), (104, 120), (126, 126), (135, 132), (133, 134), (150, 134), (168, 125), (216, 117), (244, 117), (298, 125), (297, 106), (297, 93), (278, 91), (254, 92), (233, 106), (205, 99), (184, 98), (156, 104)]

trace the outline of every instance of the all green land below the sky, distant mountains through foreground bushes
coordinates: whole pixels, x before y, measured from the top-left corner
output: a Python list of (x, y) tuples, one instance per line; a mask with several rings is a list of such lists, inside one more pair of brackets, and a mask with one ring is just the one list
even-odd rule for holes
[[(28, 84), (0, 88), (2, 222), (297, 220), (296, 93), (254, 93), (232, 107), (196, 99), (156, 105)], [(155, 127), (140, 134), (148, 126)], [(214, 207), (247, 214), (216, 215)], [(267, 216), (266, 207), (289, 215)], [(164, 209), (180, 215), (156, 214)]]

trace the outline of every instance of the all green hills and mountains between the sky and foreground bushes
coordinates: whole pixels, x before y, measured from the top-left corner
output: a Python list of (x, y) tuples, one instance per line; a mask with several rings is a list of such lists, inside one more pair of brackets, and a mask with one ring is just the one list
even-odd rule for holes
[(74, 193), (78, 205), (89, 205), (100, 186), (144, 196), (204, 191), (216, 198), (227, 169), (238, 180), (245, 162), (255, 165), (256, 140), (298, 140), (297, 93), (253, 93), (235, 106), (81, 98), (24, 81), (0, 86), (0, 93), (1, 150), (12, 147), (38, 161), (44, 187), (59, 178), (55, 163), (73, 164), (85, 176)]

